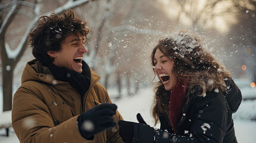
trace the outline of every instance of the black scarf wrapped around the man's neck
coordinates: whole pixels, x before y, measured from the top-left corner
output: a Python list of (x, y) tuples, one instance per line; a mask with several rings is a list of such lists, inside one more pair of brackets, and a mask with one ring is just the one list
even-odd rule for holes
[(90, 88), (91, 70), (85, 61), (82, 61), (82, 73), (69, 70), (66, 67), (58, 67), (53, 63), (47, 64), (51, 73), (57, 80), (69, 82), (73, 88), (77, 89), (81, 96)]

